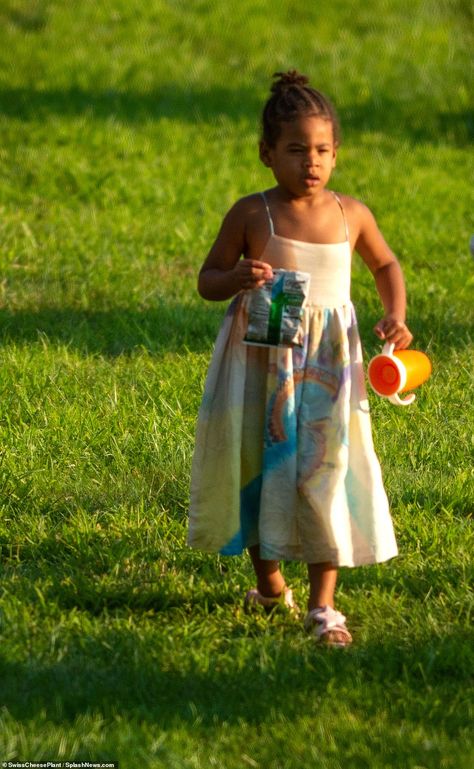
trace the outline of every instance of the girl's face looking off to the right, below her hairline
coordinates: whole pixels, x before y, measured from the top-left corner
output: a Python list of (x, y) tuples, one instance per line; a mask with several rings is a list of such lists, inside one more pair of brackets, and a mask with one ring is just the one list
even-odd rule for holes
[(291, 197), (317, 195), (336, 165), (332, 124), (314, 115), (282, 123), (274, 147), (261, 143), (260, 158)]

